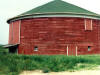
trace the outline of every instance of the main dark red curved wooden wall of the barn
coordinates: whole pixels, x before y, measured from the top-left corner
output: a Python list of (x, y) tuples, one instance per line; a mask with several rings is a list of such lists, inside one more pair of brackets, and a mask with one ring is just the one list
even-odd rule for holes
[[(19, 54), (97, 54), (100, 53), (100, 23), (85, 30), (82, 18), (35, 18), (21, 22)], [(98, 28), (99, 27), (99, 28)], [(38, 51), (34, 47), (38, 46)], [(88, 46), (91, 50), (88, 51)]]

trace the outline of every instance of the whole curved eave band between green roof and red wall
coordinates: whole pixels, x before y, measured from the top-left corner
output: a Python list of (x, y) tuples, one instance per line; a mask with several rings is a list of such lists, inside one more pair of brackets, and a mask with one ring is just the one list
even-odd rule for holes
[(90, 19), (98, 19), (100, 20), (100, 15), (94, 15), (94, 14), (86, 14), (86, 13), (72, 13), (72, 12), (49, 12), (49, 13), (35, 13), (35, 14), (25, 14), (16, 16), (13, 18), (10, 18), (7, 20), (7, 23), (21, 20), (21, 19), (27, 19), (27, 18), (41, 18), (41, 17), (76, 17), (76, 18), (90, 18)]

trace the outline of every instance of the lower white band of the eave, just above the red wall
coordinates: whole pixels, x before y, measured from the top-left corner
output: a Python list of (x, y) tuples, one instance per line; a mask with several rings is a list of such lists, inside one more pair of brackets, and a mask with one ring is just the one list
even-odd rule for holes
[(40, 15), (27, 15), (27, 16), (20, 16), (20, 17), (15, 17), (12, 19), (7, 20), (7, 22), (12, 22), (16, 20), (21, 20), (21, 19), (27, 19), (27, 18), (42, 18), (42, 17), (72, 17), (72, 18), (88, 18), (88, 19), (98, 19), (100, 18), (95, 17), (95, 16), (86, 16), (86, 15), (75, 15), (75, 14), (40, 14)]

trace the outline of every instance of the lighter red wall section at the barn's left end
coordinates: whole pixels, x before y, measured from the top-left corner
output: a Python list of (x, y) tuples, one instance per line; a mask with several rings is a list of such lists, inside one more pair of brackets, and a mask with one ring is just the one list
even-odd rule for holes
[(9, 44), (19, 44), (20, 21), (11, 22), (9, 25)]

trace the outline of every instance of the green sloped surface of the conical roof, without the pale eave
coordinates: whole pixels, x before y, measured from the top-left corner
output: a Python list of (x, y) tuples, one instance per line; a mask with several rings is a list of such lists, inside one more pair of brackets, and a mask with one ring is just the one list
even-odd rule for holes
[(39, 6), (35, 9), (32, 9), (30, 11), (27, 11), (23, 13), (22, 15), (26, 14), (33, 14), (33, 13), (53, 13), (53, 12), (72, 12), (72, 13), (84, 13), (84, 14), (94, 14), (93, 12), (90, 12), (88, 10), (85, 10), (83, 8), (80, 8), (78, 6), (75, 6), (73, 4), (61, 1), (61, 0), (54, 0), (52, 2), (49, 2), (47, 4), (44, 4), (42, 6)]

